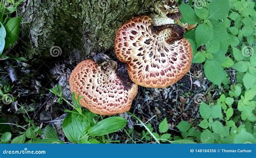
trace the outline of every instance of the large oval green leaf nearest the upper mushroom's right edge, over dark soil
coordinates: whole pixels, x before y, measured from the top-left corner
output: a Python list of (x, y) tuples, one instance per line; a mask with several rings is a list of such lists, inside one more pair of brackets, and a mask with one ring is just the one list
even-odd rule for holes
[(208, 80), (216, 85), (220, 85), (221, 81), (226, 77), (226, 73), (220, 63), (215, 60), (206, 60), (204, 72)]

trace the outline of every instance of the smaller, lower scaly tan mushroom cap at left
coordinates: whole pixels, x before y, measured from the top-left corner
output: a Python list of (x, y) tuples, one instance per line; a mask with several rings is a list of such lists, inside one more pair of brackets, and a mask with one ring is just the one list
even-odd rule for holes
[(129, 111), (138, 92), (138, 85), (126, 85), (115, 68), (104, 70), (93, 60), (79, 63), (70, 74), (71, 92), (75, 92), (80, 105), (100, 115), (113, 115)]

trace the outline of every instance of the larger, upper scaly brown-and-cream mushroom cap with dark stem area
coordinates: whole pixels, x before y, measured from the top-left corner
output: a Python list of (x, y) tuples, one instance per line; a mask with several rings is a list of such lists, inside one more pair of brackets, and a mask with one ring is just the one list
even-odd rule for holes
[(190, 70), (192, 48), (183, 35), (179, 25), (154, 26), (149, 16), (139, 16), (117, 31), (114, 49), (134, 83), (163, 88)]

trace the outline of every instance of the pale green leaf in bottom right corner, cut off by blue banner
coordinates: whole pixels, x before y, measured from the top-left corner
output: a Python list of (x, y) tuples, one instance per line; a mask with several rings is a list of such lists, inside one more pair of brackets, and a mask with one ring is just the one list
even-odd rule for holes
[(254, 136), (251, 133), (242, 130), (234, 138), (234, 143), (256, 143)]

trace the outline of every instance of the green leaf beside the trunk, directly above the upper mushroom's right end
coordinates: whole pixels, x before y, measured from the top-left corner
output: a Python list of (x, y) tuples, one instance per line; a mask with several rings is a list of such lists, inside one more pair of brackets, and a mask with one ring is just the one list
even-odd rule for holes
[(182, 14), (182, 18), (181, 18), (182, 22), (188, 23), (188, 24), (197, 23), (197, 16), (190, 5), (182, 3), (181, 5), (179, 5), (179, 10), (181, 11), (181, 14)]

